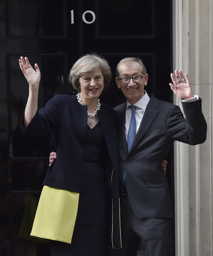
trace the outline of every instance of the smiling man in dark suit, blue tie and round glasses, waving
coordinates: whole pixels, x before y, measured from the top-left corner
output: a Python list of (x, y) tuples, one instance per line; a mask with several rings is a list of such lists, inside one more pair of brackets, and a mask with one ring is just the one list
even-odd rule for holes
[[(180, 74), (179, 74), (180, 73)], [(138, 58), (124, 58), (116, 83), (127, 102), (115, 107), (120, 153), (122, 249), (111, 255), (166, 256), (169, 218), (173, 218), (168, 182), (160, 167), (175, 140), (196, 145), (206, 140), (201, 99), (193, 95), (189, 77), (175, 71), (170, 87), (180, 108), (144, 91), (148, 74)], [(135, 106), (135, 107), (134, 107)], [(51, 158), (50, 158), (51, 159)], [(142, 254), (143, 251), (143, 254)]]

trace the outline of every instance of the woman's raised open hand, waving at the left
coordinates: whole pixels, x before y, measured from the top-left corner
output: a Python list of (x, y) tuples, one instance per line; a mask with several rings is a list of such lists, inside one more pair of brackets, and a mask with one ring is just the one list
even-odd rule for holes
[(22, 70), (22, 73), (24, 74), (24, 77), (27, 79), (27, 82), (29, 83), (30, 89), (38, 89), (41, 79), (41, 73), (38, 64), (36, 63), (35, 69), (33, 69), (33, 67), (30, 65), (28, 58), (23, 58), (21, 56), (19, 59), (19, 66)]

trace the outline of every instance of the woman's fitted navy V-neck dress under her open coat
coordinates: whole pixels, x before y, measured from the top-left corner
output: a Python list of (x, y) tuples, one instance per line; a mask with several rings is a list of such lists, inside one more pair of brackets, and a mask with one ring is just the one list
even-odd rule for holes
[(107, 230), (106, 143), (99, 123), (87, 125), (83, 175), (71, 244), (51, 241), (51, 256), (104, 256)]

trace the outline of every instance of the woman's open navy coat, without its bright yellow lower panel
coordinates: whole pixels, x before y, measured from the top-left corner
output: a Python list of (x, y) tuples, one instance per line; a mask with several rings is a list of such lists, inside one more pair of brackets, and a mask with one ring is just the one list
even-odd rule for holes
[[(111, 215), (111, 224), (108, 226), (112, 239), (109, 246), (120, 248), (119, 156), (115, 111), (101, 103), (98, 117), (108, 149), (105, 166)], [(23, 119), (24, 115), (22, 128), (29, 134), (43, 136), (52, 132), (51, 148), (57, 152), (57, 159), (49, 167), (43, 185), (80, 193), (87, 106), (80, 105), (76, 95), (56, 95), (36, 113), (26, 129)]]

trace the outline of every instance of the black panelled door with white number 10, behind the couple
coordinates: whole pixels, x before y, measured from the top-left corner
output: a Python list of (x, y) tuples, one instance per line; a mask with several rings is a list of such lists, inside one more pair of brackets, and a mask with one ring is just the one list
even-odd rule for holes
[[(91, 52), (106, 58), (113, 74), (102, 101), (113, 107), (125, 102), (115, 83), (116, 64), (137, 56), (149, 74), (147, 92), (172, 102), (172, 1), (2, 0), (0, 12), (0, 255), (48, 256), (48, 245), (30, 237), (30, 231), (51, 135), (37, 138), (20, 128), (28, 85), (18, 59), (27, 56), (40, 67), (39, 108), (55, 94), (76, 93), (70, 68)], [(167, 160), (174, 202), (172, 151)], [(174, 256), (174, 221), (170, 224), (168, 256)]]

